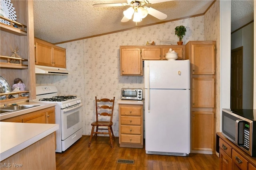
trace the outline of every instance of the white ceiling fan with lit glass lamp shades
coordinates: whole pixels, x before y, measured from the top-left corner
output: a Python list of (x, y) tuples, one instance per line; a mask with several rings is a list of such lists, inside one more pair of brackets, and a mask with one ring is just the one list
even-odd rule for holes
[(127, 0), (127, 3), (108, 3), (108, 4), (94, 4), (94, 7), (111, 7), (111, 6), (130, 6), (127, 10), (123, 12), (124, 17), (122, 18), (121, 22), (127, 22), (132, 19), (134, 22), (140, 22), (143, 18), (145, 18), (148, 14), (152, 15), (153, 17), (164, 20), (166, 19), (167, 15), (151, 8), (149, 6), (144, 6), (145, 4), (156, 4), (160, 2), (166, 2), (168, 0)]

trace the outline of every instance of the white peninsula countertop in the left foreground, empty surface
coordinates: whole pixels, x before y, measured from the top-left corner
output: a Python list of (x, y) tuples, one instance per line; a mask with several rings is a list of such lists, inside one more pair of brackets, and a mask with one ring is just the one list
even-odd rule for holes
[(0, 161), (58, 129), (58, 124), (0, 122)]

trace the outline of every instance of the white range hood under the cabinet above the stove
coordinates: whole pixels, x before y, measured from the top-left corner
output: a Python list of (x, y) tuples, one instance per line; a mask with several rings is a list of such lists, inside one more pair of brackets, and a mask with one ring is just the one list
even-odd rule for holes
[(62, 74), (62, 75), (70, 74), (66, 70), (66, 68), (56, 68), (56, 67), (35, 65), (35, 69), (36, 69), (36, 74)]

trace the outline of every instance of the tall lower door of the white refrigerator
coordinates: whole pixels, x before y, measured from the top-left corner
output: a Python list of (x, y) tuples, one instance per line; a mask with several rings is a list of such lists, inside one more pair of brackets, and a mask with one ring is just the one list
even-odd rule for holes
[(146, 152), (189, 154), (190, 90), (150, 89), (150, 96), (147, 91), (145, 89)]

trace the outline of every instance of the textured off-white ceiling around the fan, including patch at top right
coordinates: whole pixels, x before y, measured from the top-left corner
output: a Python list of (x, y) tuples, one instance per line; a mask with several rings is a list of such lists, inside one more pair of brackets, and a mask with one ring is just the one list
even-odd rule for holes
[[(213, 2), (213, 0), (166, 1), (149, 0), (149, 2), (159, 3), (147, 5), (167, 14), (165, 20), (158, 20), (148, 15), (138, 23), (137, 27), (203, 14)], [(34, 0), (35, 37), (50, 43), (60, 43), (134, 28), (136, 25), (132, 20), (124, 23), (121, 22), (123, 11), (129, 8), (129, 6), (104, 8), (92, 6), (93, 4), (100, 3), (126, 2), (126, 0)], [(234, 4), (236, 4), (236, 1), (232, 2), (232, 6)], [(253, 20), (253, 1), (243, 1), (242, 4), (240, 2), (237, 7), (241, 8), (244, 4), (246, 4), (246, 11), (240, 11), (241, 13), (243, 12), (242, 16), (244, 16), (244, 12), (248, 11), (252, 11), (252, 14), (242, 18), (238, 23), (240, 25), (232, 22), (234, 30)], [(252, 17), (252, 19), (248, 19), (248, 17)]]

